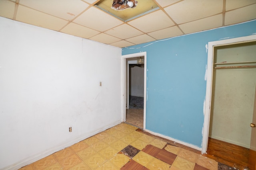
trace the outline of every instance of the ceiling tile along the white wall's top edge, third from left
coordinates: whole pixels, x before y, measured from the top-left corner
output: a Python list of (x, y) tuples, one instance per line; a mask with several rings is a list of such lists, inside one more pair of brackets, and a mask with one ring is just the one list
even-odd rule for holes
[(69, 23), (61, 30), (61, 32), (87, 39), (100, 33), (99, 31), (95, 31), (76, 23)]

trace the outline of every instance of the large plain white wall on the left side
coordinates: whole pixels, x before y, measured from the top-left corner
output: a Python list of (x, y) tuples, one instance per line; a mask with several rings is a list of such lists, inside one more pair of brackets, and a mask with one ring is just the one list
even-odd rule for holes
[(117, 47), (0, 17), (0, 169), (120, 123), (120, 56)]

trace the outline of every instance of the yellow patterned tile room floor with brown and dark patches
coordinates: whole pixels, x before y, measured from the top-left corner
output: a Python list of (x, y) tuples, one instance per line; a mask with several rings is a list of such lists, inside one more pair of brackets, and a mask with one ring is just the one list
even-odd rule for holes
[(121, 123), (20, 170), (218, 170), (218, 162)]

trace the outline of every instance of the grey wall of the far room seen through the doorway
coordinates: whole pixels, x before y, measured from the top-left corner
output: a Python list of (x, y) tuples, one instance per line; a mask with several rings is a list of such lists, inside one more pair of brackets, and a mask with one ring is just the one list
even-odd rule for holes
[(144, 97), (144, 64), (130, 69), (130, 95)]

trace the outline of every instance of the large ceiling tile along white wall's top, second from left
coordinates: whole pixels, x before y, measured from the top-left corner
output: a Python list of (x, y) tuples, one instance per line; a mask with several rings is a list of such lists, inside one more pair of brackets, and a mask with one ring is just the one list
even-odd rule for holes
[(32, 10), (22, 5), (18, 7), (16, 20), (57, 31), (68, 23), (66, 20)]

